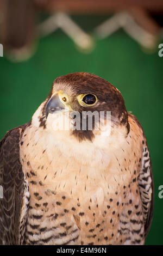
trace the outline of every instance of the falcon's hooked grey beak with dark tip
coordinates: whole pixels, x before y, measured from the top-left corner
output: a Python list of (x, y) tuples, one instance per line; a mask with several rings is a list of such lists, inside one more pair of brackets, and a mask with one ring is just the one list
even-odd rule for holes
[(54, 94), (51, 97), (51, 99), (49, 99), (49, 101), (47, 102), (47, 105), (46, 105), (46, 110), (45, 110), (46, 119), (47, 119), (49, 113), (61, 111), (62, 109), (65, 109), (64, 103), (62, 103), (60, 101), (60, 97), (58, 94)]

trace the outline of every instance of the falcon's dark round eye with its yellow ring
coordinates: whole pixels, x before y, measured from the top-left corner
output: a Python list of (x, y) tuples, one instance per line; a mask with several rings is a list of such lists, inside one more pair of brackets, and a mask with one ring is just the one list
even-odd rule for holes
[(79, 104), (83, 107), (92, 107), (98, 101), (97, 96), (91, 93), (80, 94), (77, 96), (77, 100)]

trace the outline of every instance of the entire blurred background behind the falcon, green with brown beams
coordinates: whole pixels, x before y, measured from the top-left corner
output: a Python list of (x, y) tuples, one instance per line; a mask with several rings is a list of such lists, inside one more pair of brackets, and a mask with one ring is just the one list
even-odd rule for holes
[(0, 0), (0, 139), (31, 119), (58, 76), (85, 71), (114, 84), (151, 152), (155, 203), (146, 245), (163, 245), (162, 27), (162, 0)]

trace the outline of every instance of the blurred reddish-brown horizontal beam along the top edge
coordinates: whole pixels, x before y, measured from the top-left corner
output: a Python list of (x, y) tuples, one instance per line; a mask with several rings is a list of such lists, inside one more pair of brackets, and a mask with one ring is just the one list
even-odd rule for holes
[(34, 0), (37, 7), (47, 11), (70, 14), (108, 14), (130, 8), (143, 8), (153, 13), (163, 12), (162, 0)]

